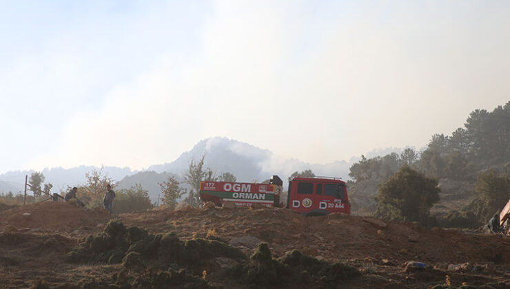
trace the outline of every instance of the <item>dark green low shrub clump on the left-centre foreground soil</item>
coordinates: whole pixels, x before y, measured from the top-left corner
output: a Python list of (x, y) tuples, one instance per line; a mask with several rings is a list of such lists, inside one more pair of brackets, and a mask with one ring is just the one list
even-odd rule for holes
[[(126, 228), (119, 220), (110, 221), (98, 235), (89, 235), (69, 254), (74, 262), (100, 261), (120, 263), (130, 267), (132, 253), (145, 265), (166, 269), (170, 264), (186, 266), (189, 270), (202, 272), (203, 263), (216, 257), (245, 259), (246, 256), (233, 246), (216, 240), (180, 240), (174, 233), (148, 234), (136, 226)], [(136, 262), (134, 262), (136, 263)], [(144, 266), (145, 267), (145, 266)]]

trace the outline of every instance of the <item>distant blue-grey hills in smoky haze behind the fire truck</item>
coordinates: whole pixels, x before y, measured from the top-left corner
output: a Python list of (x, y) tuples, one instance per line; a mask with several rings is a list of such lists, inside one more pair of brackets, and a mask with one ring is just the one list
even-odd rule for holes
[[(369, 154), (376, 155), (386, 153), (389, 150), (399, 151), (400, 149), (379, 149), (371, 151)], [(205, 167), (210, 167), (216, 174), (233, 173), (238, 182), (262, 182), (270, 178), (271, 175), (279, 175), (282, 180), (287, 180), (294, 171), (304, 171), (305, 169), (312, 169), (316, 175), (336, 176), (347, 180), (349, 167), (359, 160), (358, 157), (353, 157), (349, 162), (341, 160), (327, 164), (310, 164), (297, 159), (281, 158), (272, 151), (254, 147), (246, 142), (214, 137), (201, 140), (190, 151), (182, 153), (173, 162), (154, 164), (146, 171), (132, 171), (128, 167), (103, 167), (103, 171), (108, 174), (109, 178), (119, 182), (118, 189), (128, 189), (130, 186), (139, 183), (149, 191), (152, 202), (156, 202), (161, 192), (158, 182), (163, 182), (170, 176), (182, 181), (190, 161), (198, 161), (203, 155), (205, 155)], [(80, 166), (63, 169), (59, 167), (43, 169), (42, 173), (45, 176), (45, 182), (53, 184), (52, 192), (58, 193), (59, 191), (65, 191), (68, 186), (84, 184), (85, 173), (92, 170), (99, 170), (99, 168)], [(0, 193), (23, 191), (25, 175), (30, 176), (32, 172), (10, 171), (0, 174)]]

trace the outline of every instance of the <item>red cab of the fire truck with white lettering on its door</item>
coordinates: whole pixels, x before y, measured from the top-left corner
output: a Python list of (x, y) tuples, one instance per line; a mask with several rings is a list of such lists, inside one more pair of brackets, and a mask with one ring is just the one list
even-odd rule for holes
[(287, 208), (303, 215), (351, 212), (347, 186), (339, 178), (294, 178), (289, 181)]

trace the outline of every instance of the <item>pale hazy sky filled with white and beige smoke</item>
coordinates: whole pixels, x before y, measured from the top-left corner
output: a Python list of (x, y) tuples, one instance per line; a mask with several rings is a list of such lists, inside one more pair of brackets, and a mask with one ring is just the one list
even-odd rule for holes
[(226, 136), (307, 162), (510, 100), (510, 1), (0, 1), (0, 173)]

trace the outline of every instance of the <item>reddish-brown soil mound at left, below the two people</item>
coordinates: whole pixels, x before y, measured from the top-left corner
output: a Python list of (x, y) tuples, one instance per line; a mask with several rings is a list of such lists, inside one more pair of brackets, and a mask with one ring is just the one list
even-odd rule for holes
[(104, 208), (86, 209), (66, 202), (41, 202), (0, 211), (0, 228), (41, 228), (71, 231), (81, 226), (96, 226), (110, 220)]

